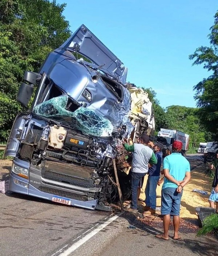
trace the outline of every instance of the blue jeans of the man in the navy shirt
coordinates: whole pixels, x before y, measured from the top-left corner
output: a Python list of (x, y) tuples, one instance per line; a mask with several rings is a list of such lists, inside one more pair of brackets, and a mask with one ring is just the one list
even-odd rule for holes
[(157, 182), (159, 181), (160, 176), (148, 176), (147, 185), (145, 188), (145, 204), (150, 206), (152, 209), (156, 209), (157, 202)]

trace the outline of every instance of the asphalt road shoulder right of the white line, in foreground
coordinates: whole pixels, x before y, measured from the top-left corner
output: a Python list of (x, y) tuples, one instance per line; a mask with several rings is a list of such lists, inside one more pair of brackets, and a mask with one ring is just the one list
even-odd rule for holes
[[(134, 226), (135, 229), (129, 228)], [(99, 233), (86, 244), (78, 248), (70, 256), (217, 256), (217, 240), (212, 237), (196, 237), (195, 232), (180, 233), (182, 240), (168, 241), (155, 237), (162, 232), (160, 228), (144, 225), (133, 214), (124, 214), (117, 227), (119, 232), (113, 229), (106, 233)], [(173, 232), (170, 232), (173, 236)], [(105, 240), (104, 238), (107, 237)], [(92, 248), (92, 250), (90, 250)]]

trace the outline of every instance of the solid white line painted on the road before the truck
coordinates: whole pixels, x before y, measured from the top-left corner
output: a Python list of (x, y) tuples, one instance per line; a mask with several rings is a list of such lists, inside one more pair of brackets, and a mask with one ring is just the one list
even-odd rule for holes
[[(76, 243), (72, 244), (68, 249), (64, 251), (67, 245), (65, 245), (62, 249), (60, 249), (58, 252), (62, 252), (61, 254), (58, 254), (58, 256), (68, 256), (70, 253), (74, 252), (78, 247), (80, 247), (82, 244), (87, 242), (90, 238), (92, 238), (95, 234), (97, 234), (99, 231), (104, 229), (106, 226), (108, 226), (111, 222), (115, 221), (118, 217), (120, 217), (121, 214), (119, 215), (114, 215), (113, 217), (110, 217), (108, 220), (106, 220), (104, 223), (98, 225), (94, 230), (91, 228), (92, 231), (90, 231), (88, 234), (80, 238)], [(87, 231), (86, 231), (87, 232)], [(86, 233), (85, 232), (85, 233)], [(53, 255), (57, 255), (57, 253), (54, 253)]]

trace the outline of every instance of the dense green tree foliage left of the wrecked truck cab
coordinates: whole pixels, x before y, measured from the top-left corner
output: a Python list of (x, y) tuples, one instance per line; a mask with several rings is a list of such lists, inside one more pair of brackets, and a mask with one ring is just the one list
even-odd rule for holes
[(70, 36), (64, 8), (49, 0), (0, 1), (1, 142), (21, 110), (16, 95), (25, 70), (39, 70), (47, 54)]

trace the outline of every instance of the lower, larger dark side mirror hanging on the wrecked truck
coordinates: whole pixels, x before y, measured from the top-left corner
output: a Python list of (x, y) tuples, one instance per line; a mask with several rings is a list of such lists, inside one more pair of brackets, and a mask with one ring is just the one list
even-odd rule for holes
[(27, 85), (25, 83), (22, 83), (17, 94), (17, 101), (20, 102), (22, 105), (27, 106), (29, 100), (31, 99), (33, 88), (33, 84)]

